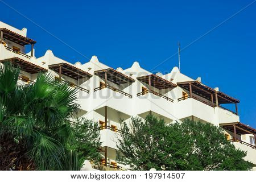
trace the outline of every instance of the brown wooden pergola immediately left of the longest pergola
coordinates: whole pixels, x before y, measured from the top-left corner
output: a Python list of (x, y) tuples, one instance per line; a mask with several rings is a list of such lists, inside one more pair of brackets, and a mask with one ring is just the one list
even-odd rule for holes
[(149, 90), (151, 90), (151, 86), (154, 88), (157, 88), (159, 90), (162, 89), (171, 89), (175, 88), (177, 85), (172, 83), (171, 81), (168, 81), (160, 76), (157, 76), (155, 74), (146, 75), (137, 77), (137, 80), (144, 82), (145, 84), (149, 85)]

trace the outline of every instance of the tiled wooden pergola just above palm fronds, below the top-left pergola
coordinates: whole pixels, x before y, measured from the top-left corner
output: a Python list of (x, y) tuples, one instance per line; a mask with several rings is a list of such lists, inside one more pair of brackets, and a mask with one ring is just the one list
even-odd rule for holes
[(46, 68), (40, 67), (39, 65), (30, 63), (23, 59), (20, 59), (19, 57), (13, 57), (10, 59), (0, 60), (0, 63), (7, 62), (7, 61), (9, 61), (13, 65), (13, 67), (17, 68), (19, 66), (20, 70), (27, 72), (27, 73), (34, 74), (34, 73), (38, 73), (38, 72), (46, 72), (47, 71)]

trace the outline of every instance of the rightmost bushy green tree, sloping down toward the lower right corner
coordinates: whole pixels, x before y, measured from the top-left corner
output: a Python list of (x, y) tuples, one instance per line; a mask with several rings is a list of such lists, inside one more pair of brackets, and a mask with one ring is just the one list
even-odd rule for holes
[(221, 127), (186, 119), (181, 130), (189, 136), (186, 170), (249, 170), (253, 167), (243, 160), (246, 152), (229, 142)]

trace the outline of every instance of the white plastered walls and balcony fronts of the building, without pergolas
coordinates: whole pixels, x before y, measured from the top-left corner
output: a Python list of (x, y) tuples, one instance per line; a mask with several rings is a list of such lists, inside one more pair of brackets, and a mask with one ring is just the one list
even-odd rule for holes
[[(26, 28), (18, 30), (2, 22), (0, 22), (0, 28), (7, 28), (14, 31), (16, 34), (25, 37), (27, 35)], [(178, 101), (179, 98), (184, 96), (183, 94), (187, 94), (189, 96), (190, 93), (189, 90), (181, 88), (179, 85), (177, 85), (177, 83), (195, 80), (183, 75), (183, 73), (180, 73), (177, 67), (174, 67), (170, 73), (166, 75), (162, 75), (160, 73), (157, 74), (159, 77), (164, 78), (168, 82), (176, 85), (174, 88), (159, 90), (152, 85), (150, 86), (145, 82), (139, 81), (137, 79), (138, 77), (151, 75), (152, 73), (141, 68), (141, 65), (135, 61), (130, 68), (116, 69), (119, 73), (123, 74), (120, 75), (125, 75), (133, 79), (133, 82), (118, 85), (107, 80), (106, 84), (110, 86), (109, 88), (95, 90), (100, 86), (100, 82), (105, 84), (105, 80), (104, 78), (95, 75), (94, 72), (111, 68), (108, 65), (101, 63), (97, 59), (97, 56), (93, 56), (92, 59), (90, 59), (90, 61), (87, 63), (77, 62), (75, 64), (71, 64), (68, 61), (56, 57), (53, 55), (51, 50), (48, 50), (42, 57), (36, 58), (34, 55), (32, 57), (26, 57), (25, 55), (30, 55), (31, 52), (26, 54), (24, 52), (24, 46), (20, 46), (8, 39), (4, 39), (3, 41), (5, 42), (5, 45), (3, 43), (0, 45), (0, 61), (18, 57), (24, 61), (27, 61), (28, 63), (35, 64), (42, 69), (47, 69), (48, 72), (50, 72), (53, 76), (60, 75), (59, 72), (49, 69), (49, 66), (65, 63), (70, 65), (73, 71), (77, 69), (88, 72), (90, 75), (92, 75), (92, 77), (78, 79), (61, 75), (61, 78), (65, 81), (72, 82), (80, 88), (89, 90), (89, 93), (84, 92), (84, 90), (80, 90), (78, 93), (79, 100), (77, 102), (81, 105), (81, 107), (77, 117), (86, 117), (93, 119), (98, 123), (107, 123), (108, 127), (105, 129), (104, 126), (104, 129), (101, 130), (101, 142), (104, 150), (107, 150), (107, 152), (102, 152), (102, 158), (104, 158), (104, 155), (106, 155), (106, 162), (109, 164), (115, 164), (115, 160), (117, 158), (117, 132), (115, 130), (120, 126), (121, 119), (128, 122), (130, 117), (139, 116), (145, 118), (147, 114), (151, 113), (156, 115), (156, 117), (163, 118), (167, 123), (172, 121), (183, 121), (185, 118), (209, 122), (216, 126), (223, 123), (240, 122), (239, 115), (233, 113), (232, 111), (223, 109), (222, 107), (216, 106), (216, 103), (212, 103), (213, 100), (208, 100), (199, 94), (192, 93), (192, 97)], [(10, 51), (6, 48), (12, 48), (13, 45), (19, 47), (20, 52), (24, 53), (25, 55)], [(23, 75), (28, 77), (31, 81), (35, 81), (37, 76), (37, 73), (28, 73), (26, 71), (21, 71), (20, 74), (21, 76)], [(146, 88), (147, 90), (150, 89), (154, 93), (158, 93), (158, 95), (152, 92), (137, 96), (138, 93), (142, 92), (142, 88)], [(117, 90), (121, 90), (121, 92), (117, 92)], [(127, 93), (127, 95), (125, 95), (125, 93)], [(168, 98), (173, 101), (168, 100)], [(249, 136), (254, 135), (245, 136), (246, 137), (241, 137), (241, 140), (250, 143)], [(246, 160), (250, 160), (256, 164), (255, 148), (251, 148), (250, 146), (246, 146), (242, 143), (235, 144), (236, 147), (248, 151)]]

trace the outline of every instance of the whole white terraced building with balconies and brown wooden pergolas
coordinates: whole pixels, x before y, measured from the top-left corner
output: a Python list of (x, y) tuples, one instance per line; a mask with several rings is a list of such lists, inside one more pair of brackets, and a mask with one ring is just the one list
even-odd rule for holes
[[(18, 30), (0, 22), (0, 62), (20, 65), (20, 80), (35, 81), (38, 72), (48, 71), (79, 89), (81, 105), (77, 117), (94, 119), (101, 126), (102, 163), (117, 168), (116, 133), (121, 119), (145, 118), (148, 114), (170, 123), (191, 118), (208, 122), (226, 130), (226, 137), (235, 146), (247, 151), (246, 160), (256, 165), (256, 130), (241, 123), (236, 98), (193, 80), (174, 67), (170, 73), (152, 74), (134, 62), (130, 68), (113, 69), (93, 56), (88, 63), (68, 63), (48, 50), (34, 56), (34, 40), (27, 38), (27, 29)], [(30, 44), (26, 53), (24, 46)], [(233, 104), (235, 111), (225, 109)]]

